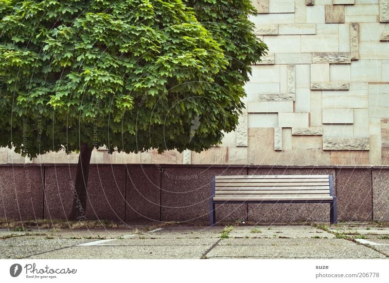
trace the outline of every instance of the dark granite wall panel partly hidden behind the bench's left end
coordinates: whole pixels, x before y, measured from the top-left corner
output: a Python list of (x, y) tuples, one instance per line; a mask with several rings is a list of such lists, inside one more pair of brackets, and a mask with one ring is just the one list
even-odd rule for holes
[[(246, 175), (246, 168), (164, 167), (162, 172), (161, 220), (208, 221), (211, 177)], [(218, 205), (216, 221), (246, 219), (247, 206)]]

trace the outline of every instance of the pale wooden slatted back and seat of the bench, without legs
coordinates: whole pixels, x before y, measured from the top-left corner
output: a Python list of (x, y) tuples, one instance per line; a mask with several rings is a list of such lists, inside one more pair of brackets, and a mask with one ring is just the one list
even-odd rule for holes
[[(213, 186), (213, 185), (212, 185)], [(215, 201), (330, 200), (332, 175), (215, 176)]]

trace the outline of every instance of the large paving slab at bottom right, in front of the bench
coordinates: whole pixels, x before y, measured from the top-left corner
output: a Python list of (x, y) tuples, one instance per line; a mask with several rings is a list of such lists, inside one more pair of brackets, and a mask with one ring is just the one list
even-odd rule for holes
[(344, 239), (225, 239), (208, 258), (380, 259), (385, 255)]

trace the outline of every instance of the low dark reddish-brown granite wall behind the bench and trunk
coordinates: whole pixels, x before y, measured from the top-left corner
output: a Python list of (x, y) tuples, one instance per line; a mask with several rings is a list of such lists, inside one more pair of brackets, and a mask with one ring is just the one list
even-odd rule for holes
[[(0, 218), (68, 219), (75, 164), (0, 166)], [(209, 221), (213, 175), (333, 175), (339, 220), (389, 221), (389, 166), (92, 164), (86, 219)], [(328, 222), (330, 204), (224, 204), (217, 221)]]

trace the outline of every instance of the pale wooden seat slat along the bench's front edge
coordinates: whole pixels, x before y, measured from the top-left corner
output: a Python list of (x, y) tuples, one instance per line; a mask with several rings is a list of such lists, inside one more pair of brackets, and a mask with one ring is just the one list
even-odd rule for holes
[(223, 195), (215, 196), (213, 201), (277, 201), (277, 200), (333, 200), (330, 195), (264, 195), (264, 196), (247, 196), (247, 195)]

